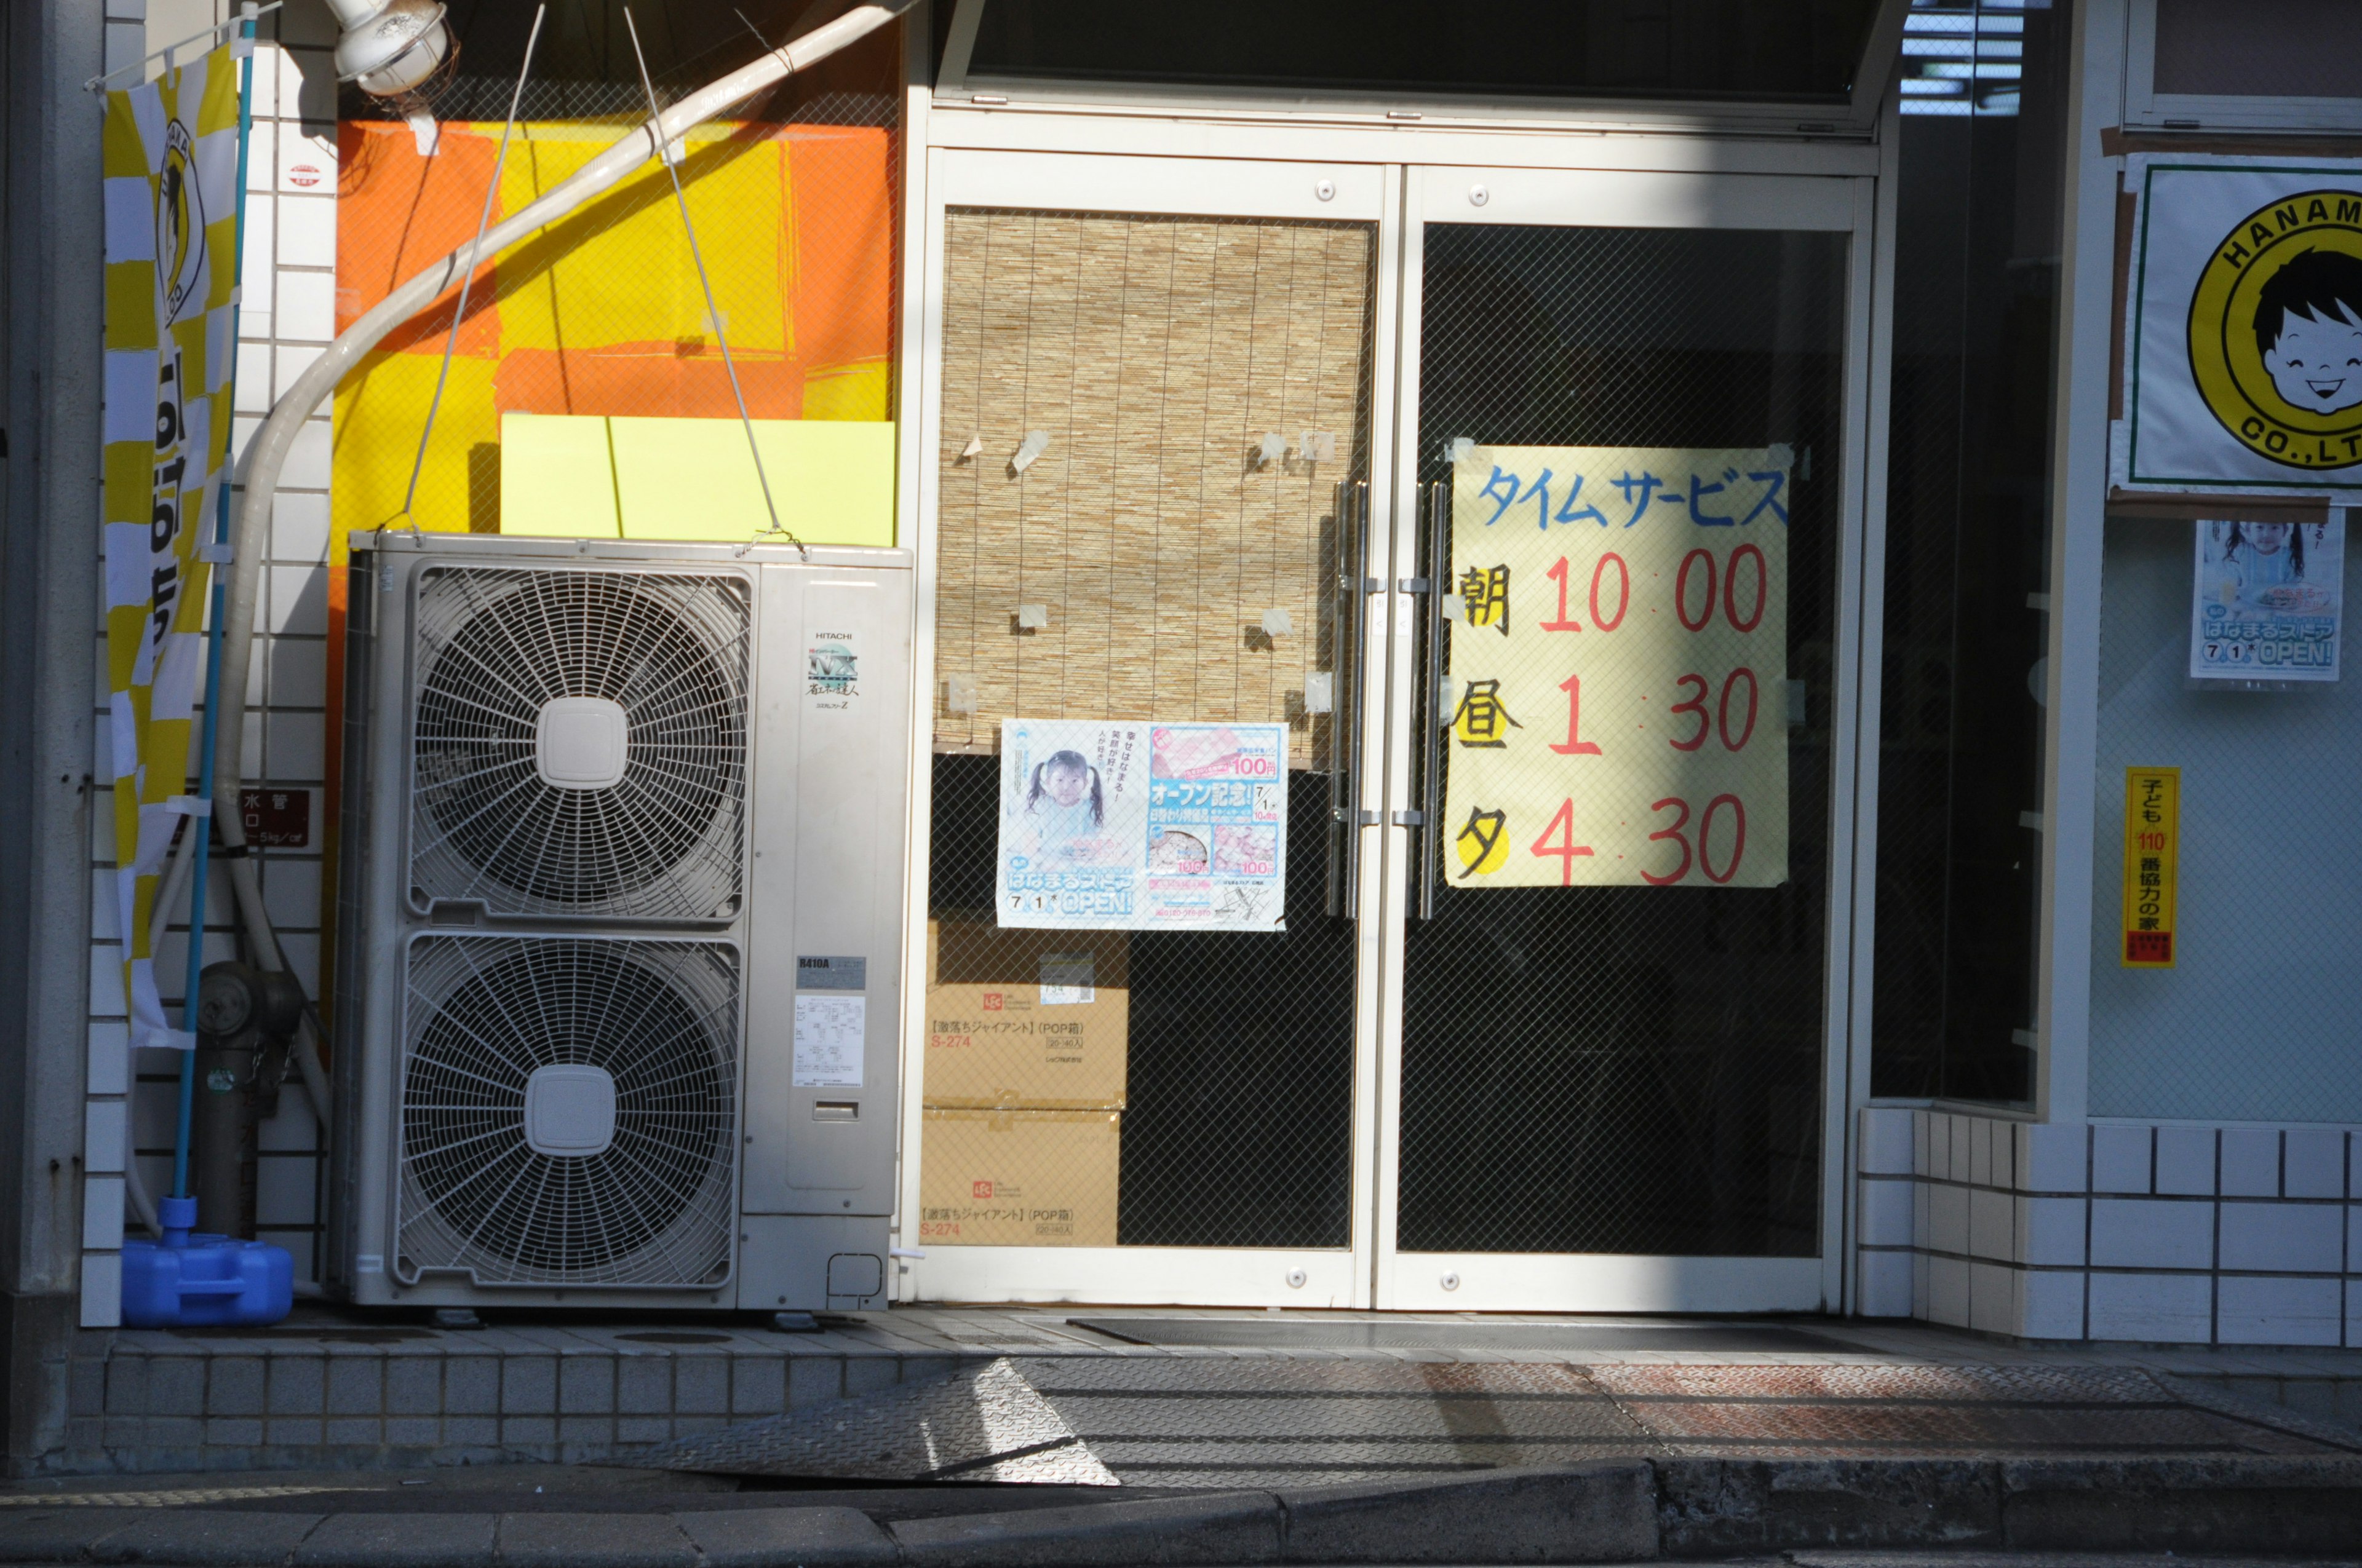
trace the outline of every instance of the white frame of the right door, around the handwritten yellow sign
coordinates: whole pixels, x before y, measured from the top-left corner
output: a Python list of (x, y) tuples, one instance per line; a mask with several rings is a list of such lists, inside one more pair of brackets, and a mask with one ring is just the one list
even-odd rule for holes
[[(1476, 191), (1481, 189), (1481, 201)], [(1868, 342), (1873, 215), (1878, 182), (1861, 175), (1722, 175), (1535, 168), (1410, 168), (1403, 196), (1403, 331), (1394, 394), (1396, 453), (1394, 553), (1396, 581), (1417, 562), (1420, 427), (1420, 302), (1427, 224), (1549, 224), (1639, 229), (1819, 229), (1849, 234), (1845, 290), (1845, 460), (1840, 468), (1838, 656), (1833, 659), (1835, 716), (1831, 732), (1828, 900), (1821, 1004), (1821, 1254), (1807, 1259), (1635, 1256), (1635, 1254), (1502, 1254), (1398, 1252), (1396, 1195), (1403, 1112), (1403, 930), (1410, 855), (1408, 827), (1386, 827), (1386, 937), (1379, 1008), (1379, 1188), (1377, 1280), (1372, 1304), (1415, 1311), (1585, 1311), (1585, 1313), (1736, 1313), (1838, 1311), (1845, 1280), (1845, 1126), (1849, 1119), (1847, 1025), (1852, 982), (1852, 852), (1854, 749), (1859, 734), (1859, 668), (1847, 656), (1861, 616), (1861, 562), (1868, 449)], [(1396, 595), (1408, 609), (1410, 595)], [(1408, 612), (1389, 623), (1408, 631)], [(1875, 645), (1875, 633), (1866, 633)], [(1417, 751), (1410, 692), (1417, 685), (1415, 640), (1398, 638), (1386, 801), (1382, 822), (1412, 805), (1410, 770)]]

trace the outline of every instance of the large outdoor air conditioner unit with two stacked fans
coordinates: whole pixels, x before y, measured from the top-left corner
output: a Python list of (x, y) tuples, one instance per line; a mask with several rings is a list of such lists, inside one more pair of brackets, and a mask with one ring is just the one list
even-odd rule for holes
[(328, 1273), (881, 1306), (909, 553), (354, 534)]

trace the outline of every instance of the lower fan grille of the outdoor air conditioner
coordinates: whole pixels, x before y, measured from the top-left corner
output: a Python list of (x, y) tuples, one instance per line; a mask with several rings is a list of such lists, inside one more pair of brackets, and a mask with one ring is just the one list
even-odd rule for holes
[[(406, 989), (399, 1280), (702, 1287), (730, 1275), (735, 947), (430, 935), (409, 949)], [(572, 1108), (543, 1117), (541, 1098)]]

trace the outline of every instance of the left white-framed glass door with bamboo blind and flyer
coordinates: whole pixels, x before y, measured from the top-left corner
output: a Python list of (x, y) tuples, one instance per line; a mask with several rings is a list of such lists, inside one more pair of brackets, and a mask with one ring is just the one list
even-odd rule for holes
[[(935, 151), (905, 1287), (1365, 1306), (1377, 165)], [(1379, 541), (1382, 543), (1382, 541)]]

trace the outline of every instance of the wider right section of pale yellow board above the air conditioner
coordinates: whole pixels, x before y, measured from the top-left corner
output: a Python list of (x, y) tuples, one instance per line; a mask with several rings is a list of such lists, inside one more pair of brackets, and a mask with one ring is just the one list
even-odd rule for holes
[[(737, 420), (616, 418), (624, 538), (751, 538), (770, 527)], [(893, 543), (893, 420), (756, 420), (779, 522), (808, 545)]]

